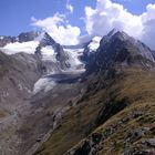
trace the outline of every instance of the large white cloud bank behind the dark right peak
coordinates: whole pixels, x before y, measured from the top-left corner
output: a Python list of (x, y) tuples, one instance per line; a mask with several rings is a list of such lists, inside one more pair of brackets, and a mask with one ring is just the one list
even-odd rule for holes
[(140, 16), (111, 0), (96, 0), (95, 9), (85, 7), (85, 29), (90, 35), (105, 35), (113, 28), (127, 32), (155, 49), (155, 4)]

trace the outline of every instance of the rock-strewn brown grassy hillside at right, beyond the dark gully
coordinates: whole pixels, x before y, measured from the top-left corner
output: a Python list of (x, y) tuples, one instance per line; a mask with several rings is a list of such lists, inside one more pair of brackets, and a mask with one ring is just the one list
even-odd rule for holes
[[(124, 79), (114, 84), (111, 91), (120, 90), (115, 93), (115, 102), (127, 97), (130, 104), (72, 148), (74, 154), (154, 154), (154, 72), (126, 70)], [(70, 151), (69, 154), (71, 153)]]

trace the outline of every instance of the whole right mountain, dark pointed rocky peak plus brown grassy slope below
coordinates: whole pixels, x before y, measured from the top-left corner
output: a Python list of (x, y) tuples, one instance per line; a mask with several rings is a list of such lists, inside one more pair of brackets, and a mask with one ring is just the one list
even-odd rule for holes
[(153, 54), (124, 32), (110, 34), (87, 65), (86, 92), (35, 155), (155, 153)]

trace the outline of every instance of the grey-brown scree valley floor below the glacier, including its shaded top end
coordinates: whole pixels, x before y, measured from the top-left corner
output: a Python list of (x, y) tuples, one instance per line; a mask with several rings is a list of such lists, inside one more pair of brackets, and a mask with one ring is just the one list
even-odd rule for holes
[(21, 101), (0, 120), (0, 154), (31, 155), (59, 127), (63, 113), (82, 95), (80, 74), (55, 74), (56, 85)]

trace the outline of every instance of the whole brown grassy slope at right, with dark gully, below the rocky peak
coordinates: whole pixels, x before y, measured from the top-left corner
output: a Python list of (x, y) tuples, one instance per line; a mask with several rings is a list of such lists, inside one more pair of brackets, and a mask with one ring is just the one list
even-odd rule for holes
[(97, 81), (100, 87), (95, 84), (87, 90), (87, 96), (64, 115), (59, 128), (35, 155), (64, 154), (82, 138), (69, 154), (152, 152), (154, 146), (149, 141), (155, 136), (154, 79), (153, 71), (133, 68), (122, 70), (107, 85), (104, 85), (106, 81)]

